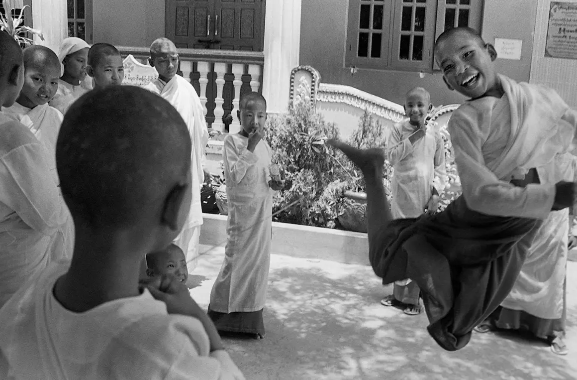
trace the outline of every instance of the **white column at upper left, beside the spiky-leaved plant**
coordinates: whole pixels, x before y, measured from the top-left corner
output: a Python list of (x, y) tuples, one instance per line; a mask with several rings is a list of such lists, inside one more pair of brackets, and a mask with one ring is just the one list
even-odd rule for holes
[(44, 41), (35, 36), (34, 43), (58, 54), (62, 40), (68, 37), (67, 12), (66, 0), (32, 0), (32, 28), (44, 35)]

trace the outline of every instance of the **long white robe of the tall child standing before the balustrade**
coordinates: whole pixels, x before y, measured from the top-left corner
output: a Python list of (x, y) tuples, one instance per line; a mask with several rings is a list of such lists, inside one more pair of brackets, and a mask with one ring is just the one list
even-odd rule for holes
[(185, 252), (188, 270), (192, 271), (194, 266), (196, 266), (198, 236), (200, 234), (200, 226), (203, 224), (200, 189), (204, 182), (204, 151), (208, 143), (208, 128), (204, 119), (203, 106), (192, 84), (178, 74), (168, 83), (161, 79), (155, 79), (144, 88), (168, 100), (181, 114), (190, 133), (190, 140), (192, 141), (192, 154), (190, 157), (192, 202), (190, 203), (190, 212), (185, 226), (174, 243)]

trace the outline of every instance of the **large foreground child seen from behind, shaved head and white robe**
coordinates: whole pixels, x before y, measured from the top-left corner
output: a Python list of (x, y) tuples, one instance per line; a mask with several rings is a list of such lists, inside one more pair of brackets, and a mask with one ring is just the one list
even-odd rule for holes
[(0, 378), (243, 379), (184, 284), (138, 284), (141, 259), (186, 219), (189, 157), (182, 118), (149, 91), (111, 86), (70, 107), (57, 166), (74, 255), (0, 310)]

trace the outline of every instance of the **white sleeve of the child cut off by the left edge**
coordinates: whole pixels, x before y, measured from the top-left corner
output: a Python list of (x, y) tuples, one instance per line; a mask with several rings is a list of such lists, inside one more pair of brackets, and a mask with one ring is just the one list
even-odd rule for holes
[(0, 158), (0, 202), (32, 229), (50, 236), (66, 222), (66, 208), (40, 142), (24, 144)]

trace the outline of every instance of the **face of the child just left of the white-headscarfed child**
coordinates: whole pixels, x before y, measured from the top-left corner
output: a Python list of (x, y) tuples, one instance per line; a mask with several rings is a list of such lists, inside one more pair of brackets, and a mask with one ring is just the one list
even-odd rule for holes
[(48, 103), (58, 91), (60, 68), (50, 65), (28, 65), (24, 71), (24, 85), (18, 103), (34, 108)]

